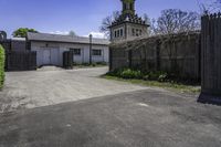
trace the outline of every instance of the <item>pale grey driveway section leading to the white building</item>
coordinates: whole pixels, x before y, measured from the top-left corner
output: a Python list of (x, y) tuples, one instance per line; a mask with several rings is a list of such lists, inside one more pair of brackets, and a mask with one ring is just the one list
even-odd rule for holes
[(113, 95), (147, 87), (99, 78), (107, 67), (65, 71), (43, 67), (31, 72), (9, 72), (0, 92), (0, 113)]

